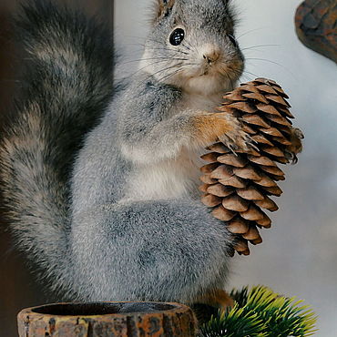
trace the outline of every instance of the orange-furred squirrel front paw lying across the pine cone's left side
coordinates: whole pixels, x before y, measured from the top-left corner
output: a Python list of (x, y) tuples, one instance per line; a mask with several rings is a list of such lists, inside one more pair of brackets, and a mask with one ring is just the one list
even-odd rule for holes
[(227, 113), (205, 113), (194, 119), (196, 139), (202, 146), (222, 142), (233, 152), (254, 147), (250, 135), (242, 130), (240, 121)]

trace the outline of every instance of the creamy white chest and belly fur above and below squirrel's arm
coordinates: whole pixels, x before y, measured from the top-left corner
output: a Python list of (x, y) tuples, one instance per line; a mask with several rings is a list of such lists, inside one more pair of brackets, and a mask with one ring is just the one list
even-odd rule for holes
[[(173, 107), (172, 115), (186, 109), (211, 112), (219, 105), (219, 101), (219, 96), (206, 99), (186, 94), (179, 102), (179, 108)], [(126, 199), (199, 198), (199, 168), (204, 164), (199, 157), (203, 153), (204, 148), (182, 148), (176, 158), (138, 165), (130, 177)]]

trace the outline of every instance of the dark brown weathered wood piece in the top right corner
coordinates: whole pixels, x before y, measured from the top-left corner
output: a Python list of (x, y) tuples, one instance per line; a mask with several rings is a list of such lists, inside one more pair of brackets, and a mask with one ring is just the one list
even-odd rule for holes
[(306, 0), (296, 12), (301, 42), (337, 63), (337, 1)]

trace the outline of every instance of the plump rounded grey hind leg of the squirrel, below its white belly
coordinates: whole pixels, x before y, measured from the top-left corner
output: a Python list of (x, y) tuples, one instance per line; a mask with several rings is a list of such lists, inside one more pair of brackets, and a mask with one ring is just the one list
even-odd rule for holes
[(228, 277), (230, 234), (197, 201), (97, 207), (74, 220), (72, 237), (90, 301), (193, 303)]

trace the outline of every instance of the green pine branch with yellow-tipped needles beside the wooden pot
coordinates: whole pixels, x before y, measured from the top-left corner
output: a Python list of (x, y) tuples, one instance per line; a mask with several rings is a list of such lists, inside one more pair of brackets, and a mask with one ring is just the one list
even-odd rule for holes
[(236, 304), (203, 324), (203, 337), (306, 337), (315, 330), (316, 317), (302, 301), (266, 287), (232, 291)]

